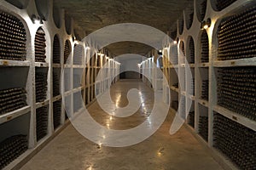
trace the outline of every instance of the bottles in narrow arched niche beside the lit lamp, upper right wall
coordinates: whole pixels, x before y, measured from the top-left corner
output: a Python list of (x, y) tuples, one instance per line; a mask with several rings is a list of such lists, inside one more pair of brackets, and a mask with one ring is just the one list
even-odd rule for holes
[(207, 31), (203, 31), (201, 35), (201, 63), (209, 62), (209, 40)]

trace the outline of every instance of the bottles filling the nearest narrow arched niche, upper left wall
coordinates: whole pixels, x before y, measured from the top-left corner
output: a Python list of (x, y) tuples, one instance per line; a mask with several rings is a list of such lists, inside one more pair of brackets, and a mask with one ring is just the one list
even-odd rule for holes
[(46, 40), (44, 31), (39, 28), (36, 37), (35, 37), (35, 61), (36, 62), (45, 62), (46, 55), (45, 55), (45, 48), (46, 48)]

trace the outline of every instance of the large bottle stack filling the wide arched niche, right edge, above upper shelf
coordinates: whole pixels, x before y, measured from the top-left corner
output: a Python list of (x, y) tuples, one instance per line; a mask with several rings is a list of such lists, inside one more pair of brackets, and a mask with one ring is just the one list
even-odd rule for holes
[(222, 20), (218, 27), (218, 59), (245, 59), (256, 55), (256, 6)]

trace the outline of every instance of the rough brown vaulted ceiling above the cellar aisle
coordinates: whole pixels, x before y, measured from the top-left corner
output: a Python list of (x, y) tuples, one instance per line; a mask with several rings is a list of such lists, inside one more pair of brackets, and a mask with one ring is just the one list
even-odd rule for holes
[[(74, 30), (80, 38), (93, 31), (120, 23), (138, 23), (170, 31), (184, 8), (193, 0), (54, 0), (55, 7), (64, 8), (74, 20)], [(154, 36), (154, 35), (152, 35)], [(112, 54), (147, 54), (148, 45), (137, 42), (117, 42), (107, 47)]]

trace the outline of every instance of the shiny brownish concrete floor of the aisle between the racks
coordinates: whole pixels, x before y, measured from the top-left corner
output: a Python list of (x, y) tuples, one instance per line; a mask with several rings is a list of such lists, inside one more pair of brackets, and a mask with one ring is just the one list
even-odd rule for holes
[[(94, 103), (90, 105), (89, 111), (96, 122), (103, 126), (108, 124), (112, 129), (128, 129), (147, 120), (154, 95), (143, 82), (116, 83), (111, 89), (113, 101), (119, 106), (127, 105), (125, 94), (130, 88), (137, 88), (142, 92), (141, 102), (144, 105), (141, 105), (134, 115), (126, 118), (113, 117), (109, 123), (110, 116)], [(154, 135), (139, 144), (127, 147), (100, 147), (85, 139), (71, 124), (32, 157), (21, 170), (222, 169), (186, 127), (170, 135), (172, 118), (173, 114), (169, 112), (166, 121)]]

